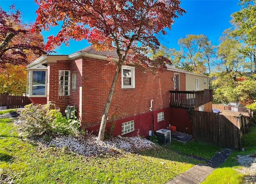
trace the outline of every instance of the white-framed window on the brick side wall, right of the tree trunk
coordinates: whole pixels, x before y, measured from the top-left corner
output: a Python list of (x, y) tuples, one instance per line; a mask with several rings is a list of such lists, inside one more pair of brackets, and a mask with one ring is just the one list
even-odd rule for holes
[(135, 68), (122, 66), (122, 88), (135, 88)]

